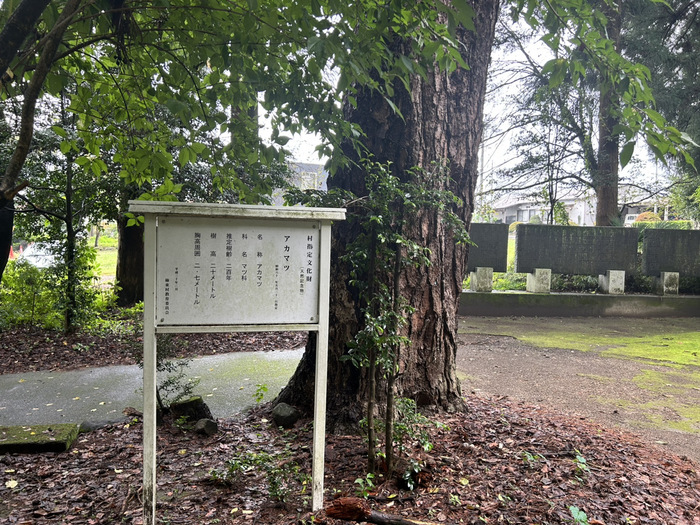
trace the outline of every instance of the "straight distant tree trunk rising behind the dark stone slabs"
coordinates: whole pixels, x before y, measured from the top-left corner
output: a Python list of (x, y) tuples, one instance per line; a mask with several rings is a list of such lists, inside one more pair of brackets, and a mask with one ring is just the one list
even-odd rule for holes
[[(608, 17), (608, 38), (614, 42), (615, 50), (620, 51), (620, 29), (622, 25), (621, 7), (605, 9)], [(613, 133), (619, 117), (620, 105), (615, 87), (605, 77), (600, 82), (600, 103), (598, 118), (598, 166), (593, 172), (593, 187), (596, 192), (596, 226), (612, 226), (619, 216), (617, 209), (620, 159), (620, 139)]]

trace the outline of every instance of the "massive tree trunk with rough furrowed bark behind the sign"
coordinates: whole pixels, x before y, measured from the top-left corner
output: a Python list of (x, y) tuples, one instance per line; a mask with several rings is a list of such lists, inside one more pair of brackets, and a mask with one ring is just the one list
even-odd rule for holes
[[(404, 116), (395, 114), (379, 96), (361, 92), (357, 109), (348, 106), (349, 120), (367, 133), (366, 145), (374, 160), (391, 162), (395, 175), (407, 180), (406, 170), (419, 166), (434, 171), (434, 162), (448, 162), (448, 177), (436, 181), (463, 200), (456, 210), (469, 221), (473, 209), (478, 171), (482, 112), (486, 75), (490, 59), (498, 1), (478, 2), (476, 32), (460, 28), (463, 56), (470, 69), (452, 74), (433, 71), (427, 79), (413, 78), (411, 92), (395, 87), (393, 102)], [(365, 195), (364, 173), (350, 168), (329, 182)], [(333, 231), (331, 268), (331, 322), (329, 338), (328, 393), (330, 430), (354, 426), (361, 418), (366, 377), (341, 356), (361, 326), (357, 292), (349, 284), (348, 268), (341, 262), (346, 246), (358, 234), (358, 226), (348, 220)], [(429, 267), (410, 268), (401, 276), (401, 293), (415, 308), (408, 319), (405, 335), (410, 345), (402, 348), (398, 396), (410, 397), (421, 405), (451, 409), (461, 405), (455, 374), (456, 312), (466, 268), (466, 249), (456, 246), (451, 232), (435, 212), (424, 211), (412, 217), (405, 235), (430, 248)], [(310, 410), (313, 395), (313, 352), (307, 347), (304, 358), (278, 399)]]

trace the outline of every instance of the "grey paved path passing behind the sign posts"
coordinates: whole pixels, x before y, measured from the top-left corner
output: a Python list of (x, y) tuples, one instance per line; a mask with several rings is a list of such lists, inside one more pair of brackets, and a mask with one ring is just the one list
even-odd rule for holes
[[(191, 361), (188, 375), (200, 379), (201, 395), (214, 417), (255, 404), (257, 385), (271, 400), (287, 384), (303, 348), (237, 352)], [(125, 407), (142, 410), (142, 370), (108, 366), (67, 372), (0, 375), (0, 426), (116, 420)]]

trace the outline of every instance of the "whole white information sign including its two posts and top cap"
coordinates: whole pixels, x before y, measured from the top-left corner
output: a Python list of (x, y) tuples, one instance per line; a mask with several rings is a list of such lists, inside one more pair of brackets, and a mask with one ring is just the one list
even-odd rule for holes
[(316, 331), (312, 509), (323, 506), (331, 222), (344, 209), (130, 201), (144, 222), (143, 514), (155, 525), (156, 334)]

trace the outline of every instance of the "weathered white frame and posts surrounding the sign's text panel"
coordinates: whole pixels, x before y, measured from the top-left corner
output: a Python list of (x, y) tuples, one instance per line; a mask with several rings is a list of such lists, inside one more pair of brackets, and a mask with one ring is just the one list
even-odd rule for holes
[[(328, 317), (330, 299), (330, 244), (332, 221), (344, 220), (343, 208), (305, 208), (287, 206), (254, 206), (244, 204), (208, 204), (163, 201), (129, 201), (129, 212), (144, 216), (144, 309), (143, 309), (143, 518), (144, 525), (156, 523), (156, 334), (212, 333), (260, 331), (317, 332), (316, 370), (314, 382), (314, 431), (312, 460), (312, 510), (323, 506), (323, 477), (326, 432), (326, 392), (328, 376)], [(319, 226), (318, 268), (316, 269), (316, 322), (279, 322), (237, 324), (164, 324), (159, 322), (158, 233), (160, 218), (222, 219), (236, 221), (269, 221), (268, 224), (316, 221)], [(206, 223), (206, 221), (205, 221)], [(298, 320), (296, 320), (298, 321)]]

